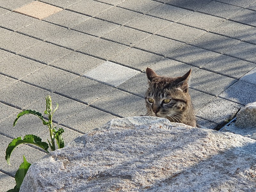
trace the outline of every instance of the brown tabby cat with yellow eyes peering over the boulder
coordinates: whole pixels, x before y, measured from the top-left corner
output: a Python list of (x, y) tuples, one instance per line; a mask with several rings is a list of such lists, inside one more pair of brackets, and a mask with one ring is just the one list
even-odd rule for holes
[(191, 96), (188, 92), (188, 82), (191, 69), (181, 77), (158, 76), (150, 68), (146, 69), (148, 89), (145, 93), (147, 116), (167, 118), (196, 127), (196, 116)]

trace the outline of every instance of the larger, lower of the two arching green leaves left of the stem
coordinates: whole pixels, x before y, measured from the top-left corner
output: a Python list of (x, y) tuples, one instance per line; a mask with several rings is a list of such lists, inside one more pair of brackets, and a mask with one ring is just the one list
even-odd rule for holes
[(40, 137), (37, 137), (36, 135), (25, 135), (23, 139), (21, 137), (17, 137), (16, 139), (13, 139), (9, 143), (8, 147), (6, 148), (5, 160), (7, 161), (8, 164), (10, 164), (10, 157), (11, 157), (12, 151), (14, 150), (14, 148), (16, 148), (18, 145), (22, 143), (24, 144), (29, 143), (29, 144), (36, 145), (44, 149), (47, 153), (49, 153), (49, 151), (47, 150), (49, 148), (48, 144), (46, 142), (42, 142)]

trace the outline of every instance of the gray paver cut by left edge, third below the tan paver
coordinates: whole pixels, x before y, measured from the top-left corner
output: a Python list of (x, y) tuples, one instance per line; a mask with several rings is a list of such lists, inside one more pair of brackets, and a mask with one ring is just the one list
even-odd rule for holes
[[(14, 55), (8, 60), (4, 60), (0, 63), (0, 72), (6, 76), (13, 77), (15, 79), (22, 79), (25, 76), (34, 73), (40, 68), (44, 68), (45, 65), (33, 60)], [(13, 70), (19, 69), (19, 70)]]

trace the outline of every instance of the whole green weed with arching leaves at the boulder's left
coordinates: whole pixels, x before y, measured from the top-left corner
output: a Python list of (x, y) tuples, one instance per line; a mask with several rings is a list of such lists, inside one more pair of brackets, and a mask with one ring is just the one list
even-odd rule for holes
[[(57, 128), (53, 127), (53, 124), (52, 124), (52, 116), (58, 107), (59, 107), (59, 104), (57, 103), (57, 107), (54, 110), (52, 110), (52, 99), (50, 95), (47, 95), (46, 110), (44, 111), (44, 114), (48, 115), (48, 121), (44, 119), (41, 113), (39, 113), (38, 111), (30, 110), (30, 109), (24, 110), (18, 114), (17, 118), (13, 122), (13, 126), (17, 124), (18, 119), (23, 115), (31, 114), (31, 115), (37, 116), (42, 120), (44, 125), (48, 126), (51, 141), (47, 139), (49, 143), (48, 145), (48, 143), (42, 142), (42, 139), (40, 137), (32, 134), (25, 135), (23, 139), (21, 137), (17, 137), (16, 139), (13, 139), (12, 142), (10, 142), (9, 145), (7, 146), (6, 152), (5, 152), (5, 160), (9, 165), (10, 165), (10, 157), (11, 157), (12, 151), (14, 150), (14, 148), (16, 148), (20, 144), (26, 144), (26, 143), (33, 144), (33, 145), (36, 145), (37, 147), (44, 149), (46, 153), (49, 153), (48, 151), (49, 146), (51, 148), (51, 151), (54, 151), (56, 149), (55, 147), (55, 139), (56, 139), (58, 148), (64, 147), (64, 141), (61, 136), (64, 130), (62, 128), (59, 128), (57, 130)], [(16, 186), (13, 189), (8, 190), (7, 192), (17, 192), (20, 190), (20, 185), (23, 182), (23, 179), (28, 171), (28, 168), (31, 165), (30, 163), (27, 162), (25, 156), (23, 156), (23, 160), (24, 160), (23, 163), (20, 164), (20, 167), (15, 174)]]

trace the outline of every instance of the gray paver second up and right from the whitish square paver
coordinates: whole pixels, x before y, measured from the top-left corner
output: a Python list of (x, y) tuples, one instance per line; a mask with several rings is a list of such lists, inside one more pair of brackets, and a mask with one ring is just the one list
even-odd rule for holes
[(181, 43), (179, 41), (174, 41), (165, 37), (152, 35), (146, 39), (143, 39), (138, 44), (134, 45), (134, 47), (137, 47), (144, 51), (160, 54), (166, 57), (171, 52), (174, 52), (175, 50), (179, 49), (184, 45), (184, 43)]

